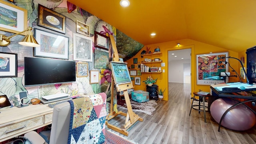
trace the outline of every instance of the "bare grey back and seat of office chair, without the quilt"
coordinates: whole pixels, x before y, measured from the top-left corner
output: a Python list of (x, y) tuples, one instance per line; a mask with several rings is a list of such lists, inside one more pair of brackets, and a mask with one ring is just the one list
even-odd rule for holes
[[(37, 132), (31, 131), (24, 134), (25, 144), (67, 144), (70, 125), (71, 107), (69, 102), (64, 102), (54, 106), (52, 114), (52, 128), (50, 131), (44, 132), (44, 138)], [(48, 137), (47, 135), (50, 135)], [(47, 138), (48, 137), (48, 138)]]

